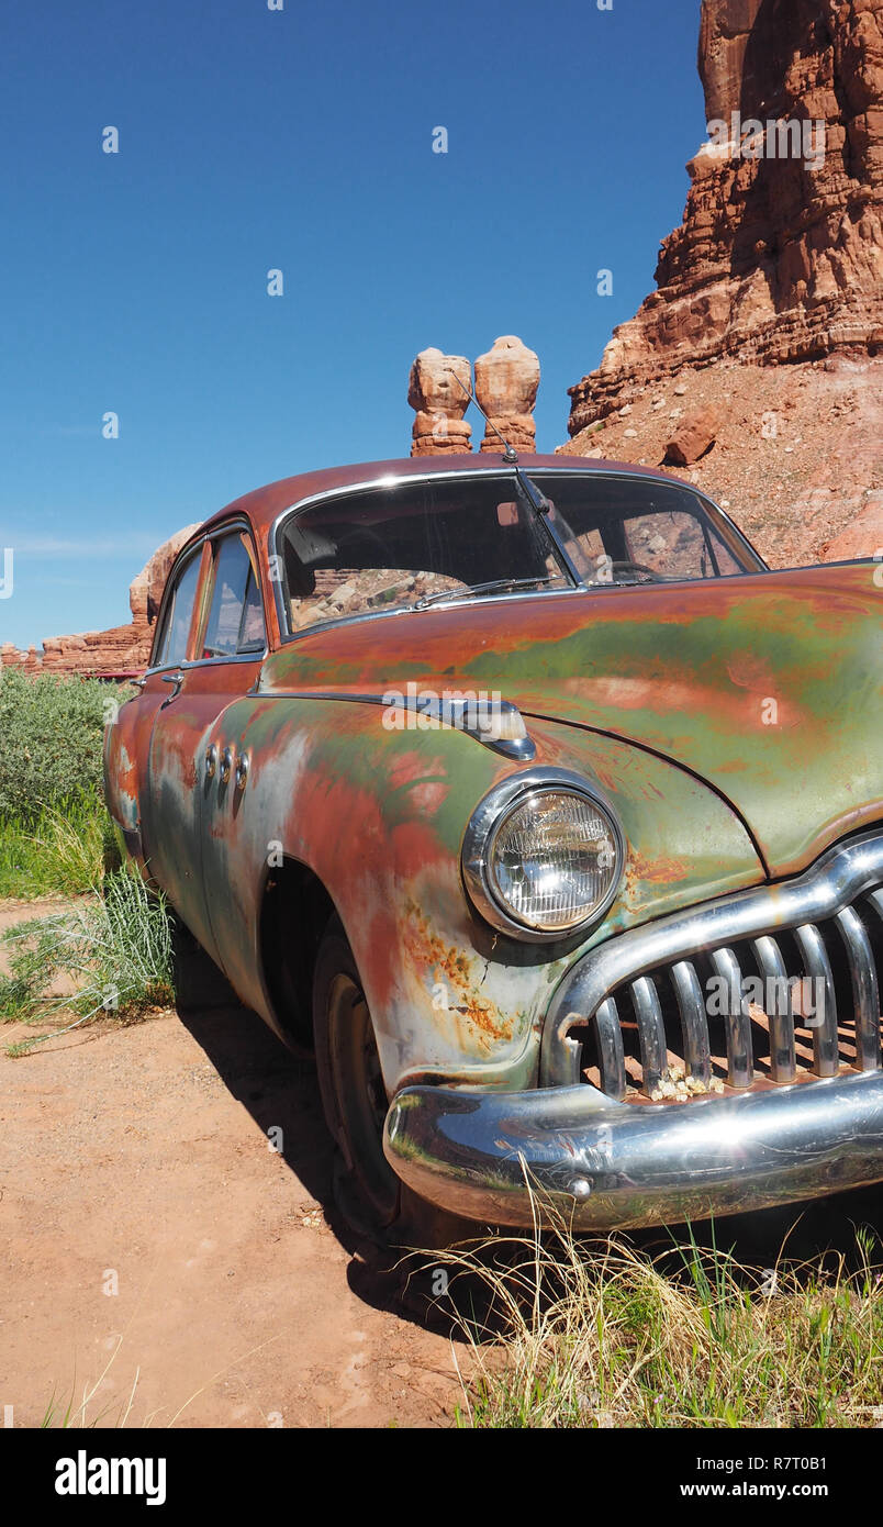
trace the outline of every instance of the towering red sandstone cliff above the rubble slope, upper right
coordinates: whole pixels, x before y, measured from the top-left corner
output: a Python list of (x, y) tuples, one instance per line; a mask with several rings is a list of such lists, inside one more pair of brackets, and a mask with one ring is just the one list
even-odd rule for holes
[(883, 354), (883, 0), (703, 0), (700, 73), (683, 223), (571, 435), (684, 365)]

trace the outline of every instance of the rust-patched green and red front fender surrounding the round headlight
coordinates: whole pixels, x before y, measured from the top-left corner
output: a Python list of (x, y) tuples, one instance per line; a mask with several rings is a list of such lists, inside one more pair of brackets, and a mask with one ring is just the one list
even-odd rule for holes
[(519, 765), (452, 728), (390, 730), (390, 715), (350, 699), (237, 701), (225, 730), (251, 773), (214, 843), (225, 872), (212, 890), (228, 976), (272, 1022), (257, 954), (267, 863), (284, 854), (318, 875), (362, 974), (390, 1095), (420, 1081), (535, 1086), (548, 1000), (585, 950), (764, 878), (732, 809), (691, 774), (620, 739), (532, 724), (530, 767), (594, 780), (619, 812), (628, 860), (590, 938), (495, 935), (466, 898), (460, 849), (481, 797)]

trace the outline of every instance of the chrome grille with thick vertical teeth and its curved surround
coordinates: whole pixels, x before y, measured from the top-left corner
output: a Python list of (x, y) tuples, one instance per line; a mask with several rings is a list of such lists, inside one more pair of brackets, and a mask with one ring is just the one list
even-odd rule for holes
[(797, 880), (600, 945), (556, 996), (542, 1083), (674, 1101), (878, 1069), (881, 887), (883, 835), (866, 834)]

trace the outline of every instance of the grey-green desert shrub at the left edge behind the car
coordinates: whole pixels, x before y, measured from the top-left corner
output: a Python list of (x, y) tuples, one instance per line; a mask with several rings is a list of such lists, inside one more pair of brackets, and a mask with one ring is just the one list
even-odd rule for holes
[(0, 669), (0, 822), (35, 826), (101, 799), (105, 709), (124, 695), (95, 678)]

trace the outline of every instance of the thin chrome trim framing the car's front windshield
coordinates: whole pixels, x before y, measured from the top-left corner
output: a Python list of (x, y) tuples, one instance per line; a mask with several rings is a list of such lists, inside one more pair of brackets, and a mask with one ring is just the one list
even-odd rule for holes
[[(544, 467), (536, 467), (535, 470), (532, 470), (529, 466), (522, 466), (521, 470), (522, 470), (522, 473), (526, 476), (536, 478), (536, 479), (539, 479), (542, 476), (559, 476), (559, 475), (564, 475), (564, 476), (585, 476), (588, 479), (594, 479), (594, 478), (617, 478), (619, 481), (631, 481), (631, 483), (643, 483), (643, 484), (646, 484), (646, 483), (655, 483), (660, 487), (665, 487), (666, 483), (671, 483), (672, 487), (680, 487), (680, 489), (683, 489), (687, 493), (694, 493), (695, 498), (701, 504), (710, 504), (710, 507), (715, 510), (715, 513), (721, 516), (721, 519), (726, 522), (726, 525), (733, 531), (735, 538), (749, 551), (750, 557), (753, 557), (753, 559), (756, 559), (759, 562), (758, 568), (752, 568), (747, 573), (730, 573), (729, 576), (726, 576), (726, 582), (727, 583), (732, 583), (735, 579), (739, 579), (739, 577), (761, 577), (762, 574), (773, 571), (764, 562), (761, 553), (752, 545), (752, 542), (744, 534), (744, 531), (741, 531), (739, 527), (735, 524), (735, 521), (730, 519), (730, 516), (727, 515), (727, 512), (724, 508), (721, 508), (720, 504), (716, 504), (713, 501), (713, 498), (710, 498), (709, 493), (703, 493), (694, 483), (684, 483), (684, 481), (681, 481), (681, 478), (674, 478), (674, 476), (669, 478), (669, 479), (663, 479), (663, 478), (654, 476), (652, 473), (648, 475), (648, 473), (643, 473), (643, 472), (622, 470), (622, 469), (617, 469), (617, 467), (611, 467), (610, 470), (608, 469), (596, 469), (596, 470), (590, 469), (590, 470), (587, 470), (585, 467), (571, 467), (571, 466), (561, 466), (561, 467), (545, 467), (544, 466)], [(403, 473), (400, 476), (396, 476), (396, 473), (385, 472), (383, 476), (379, 476), (379, 478), (362, 478), (357, 483), (347, 483), (342, 487), (322, 489), (319, 493), (310, 493), (307, 498), (298, 498), (298, 499), (293, 501), (293, 504), (289, 504), (286, 508), (280, 510), (280, 513), (272, 521), (272, 524), (270, 524), (270, 527), (267, 530), (267, 559), (269, 559), (267, 565), (272, 567), (273, 565), (272, 559), (275, 556), (278, 556), (277, 536), (278, 536), (278, 531), (280, 531), (280, 528), (283, 525), (283, 521), (289, 519), (293, 515), (301, 515), (302, 512), (306, 512), (309, 508), (313, 508), (316, 504), (324, 504), (328, 499), (335, 499), (335, 498), (341, 498), (341, 499), (350, 498), (350, 496), (353, 496), (356, 493), (365, 493), (365, 492), (371, 492), (374, 489), (396, 487), (399, 484), (406, 486), (409, 483), (419, 483), (419, 484), (426, 484), (426, 483), (457, 483), (457, 481), (469, 481), (469, 479), (474, 479), (475, 476), (483, 476), (483, 478), (500, 476), (504, 481), (510, 481), (513, 486), (518, 484), (518, 478), (516, 478), (516, 473), (515, 473), (513, 467), (509, 467), (509, 469), (503, 467), (501, 469), (496, 464), (480, 466), (477, 463), (475, 466), (458, 467), (458, 469), (454, 469), (451, 472), (408, 472), (408, 473)], [(642, 585), (642, 589), (643, 588), (657, 588), (657, 586), (658, 588), (675, 588), (678, 583), (681, 583), (681, 585), (691, 585), (692, 586), (695, 583), (720, 583), (720, 582), (724, 582), (724, 579), (723, 577), (713, 577), (713, 579), (671, 579), (671, 580), (666, 580), (665, 583), (660, 583), (660, 585), (655, 585), (655, 583)], [(302, 631), (290, 631), (289, 629), (289, 615), (286, 612), (286, 602), (283, 599), (283, 579), (281, 577), (270, 579), (270, 585), (272, 585), (272, 589), (273, 589), (273, 600), (275, 600), (275, 606), (277, 606), (277, 620), (278, 620), (278, 628), (280, 628), (280, 644), (281, 646), (287, 646), (290, 641), (298, 641), (301, 637), (307, 637), (313, 631), (328, 631), (328, 629), (332, 629), (335, 626), (348, 626), (348, 625), (353, 625), (354, 621), (388, 618), (390, 615), (423, 614), (423, 611), (414, 611), (409, 606), (402, 606), (400, 609), (373, 609), (373, 611), (367, 611), (365, 614), (359, 614), (359, 615), (345, 615), (341, 620), (319, 620), (319, 621), (316, 621), (315, 626), (306, 626)], [(536, 589), (536, 592), (533, 592), (533, 594), (500, 594), (500, 596), (496, 596), (496, 594), (493, 594), (493, 596), (477, 594), (475, 599), (457, 599), (457, 600), (451, 600), (449, 603), (438, 602), (438, 603), (432, 605), (432, 609), (451, 609), (452, 605), (471, 608), (474, 605), (480, 605), (480, 603), (486, 605), (486, 603), (490, 603), (492, 600), (500, 600), (500, 599), (536, 599), (538, 596), (541, 596), (542, 599), (551, 599), (555, 594), (602, 594), (602, 592), (606, 592), (610, 589), (617, 589), (617, 588), (622, 591), (623, 586), (631, 586), (631, 585), (616, 585), (616, 583), (600, 585), (600, 583), (593, 583), (591, 586), (581, 586), (581, 588)]]

